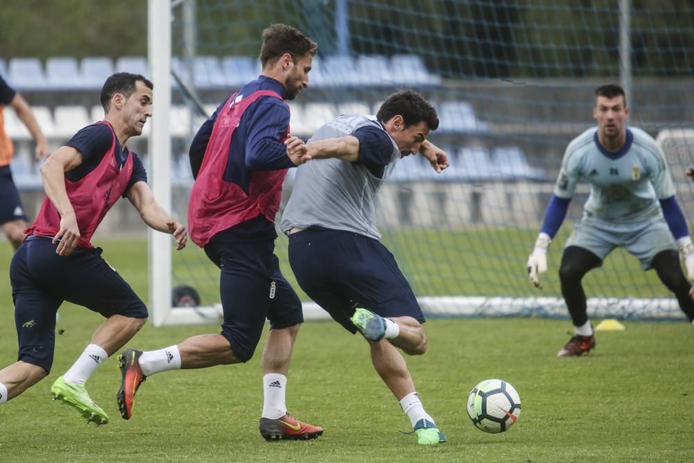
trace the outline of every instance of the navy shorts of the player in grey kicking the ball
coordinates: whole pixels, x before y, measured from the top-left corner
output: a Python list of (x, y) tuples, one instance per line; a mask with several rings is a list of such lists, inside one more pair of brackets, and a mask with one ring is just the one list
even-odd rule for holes
[(350, 321), (356, 307), (425, 321), (412, 287), (378, 239), (309, 228), (289, 235), (289, 264), (301, 289), (350, 332), (357, 331)]

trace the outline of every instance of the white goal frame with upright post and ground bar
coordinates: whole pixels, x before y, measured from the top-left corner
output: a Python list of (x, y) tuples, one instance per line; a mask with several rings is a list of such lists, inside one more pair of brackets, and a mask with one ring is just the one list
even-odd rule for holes
[[(183, 0), (185, 1), (185, 0)], [(151, 187), (155, 199), (171, 211), (171, 8), (181, 0), (148, 0), (148, 55), (151, 78), (155, 83), (157, 114), (151, 120), (149, 154)], [(657, 137), (659, 144), (672, 138), (691, 139), (694, 129), (667, 129)], [(691, 145), (690, 145), (691, 146)], [(149, 230), (149, 307), (154, 326), (217, 323), (222, 319), (221, 304), (197, 308), (171, 308), (171, 237)], [(194, 244), (189, 243), (190, 246)], [(527, 316), (567, 317), (561, 298), (511, 298), (481, 296), (422, 297), (418, 299), (428, 317)], [(674, 298), (589, 298), (591, 317), (625, 319), (684, 318)], [(304, 303), (306, 320), (328, 319), (315, 303)]]

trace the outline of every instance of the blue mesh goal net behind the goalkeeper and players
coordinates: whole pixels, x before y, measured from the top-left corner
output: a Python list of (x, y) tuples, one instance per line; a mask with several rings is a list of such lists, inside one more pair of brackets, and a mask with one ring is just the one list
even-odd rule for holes
[[(274, 22), (296, 26), (319, 43), (310, 87), (289, 102), (295, 135), (310, 137), (339, 114), (374, 114), (399, 87), (418, 90), (437, 108), (441, 126), (430, 140), (446, 149), (450, 169), (434, 174), (421, 157), (406, 158), (380, 192), (378, 210), (382, 240), (428, 316), (567, 316), (557, 270), (564, 242), (581, 216), (586, 185), (550, 246), (543, 291), (528, 282), (525, 262), (564, 149), (595, 125), (593, 92), (605, 83), (625, 87), (629, 125), (657, 137), (677, 199), (685, 216), (694, 217), (692, 184), (684, 174), (694, 159), (689, 3), (151, 2), (170, 10), (173, 122), (154, 129), (169, 131), (160, 134), (171, 146), (167, 198), (183, 221), (192, 185), (189, 142), (226, 96), (260, 73), (261, 31)], [(165, 51), (151, 46), (150, 62)], [(167, 155), (152, 152), (153, 159)], [(291, 194), (291, 174), (282, 204)], [(189, 247), (171, 256), (168, 242), (151, 253), (151, 278), (163, 282), (152, 294), (159, 301), (155, 324), (219, 319), (219, 270), (201, 249)], [(294, 283), (286, 249), (280, 234), (276, 253)], [(167, 259), (170, 267), (162, 266)], [(171, 309), (171, 288), (181, 285), (195, 289), (198, 307)], [(321, 317), (294, 287), (307, 318)], [(622, 250), (591, 271), (584, 287), (591, 317), (683, 317), (655, 273), (642, 271)]]

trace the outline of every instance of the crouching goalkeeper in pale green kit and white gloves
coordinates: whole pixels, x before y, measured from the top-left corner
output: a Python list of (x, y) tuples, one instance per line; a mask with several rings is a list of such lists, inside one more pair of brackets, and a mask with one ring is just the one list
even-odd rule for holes
[(595, 91), (593, 117), (598, 128), (590, 128), (568, 144), (554, 196), (528, 258), (528, 276), (541, 288), (539, 273), (547, 271), (548, 246), (566, 217), (578, 181), (587, 180), (591, 192), (583, 218), (566, 242), (559, 267), (561, 294), (576, 330), (559, 357), (583, 355), (595, 347), (581, 280), (618, 246), (638, 258), (644, 270), (655, 269), (677, 297), (682, 312), (690, 322), (694, 320), (688, 281), (694, 279), (694, 246), (686, 220), (675, 200), (661, 149), (641, 129), (627, 128), (628, 114), (621, 87), (604, 85)]

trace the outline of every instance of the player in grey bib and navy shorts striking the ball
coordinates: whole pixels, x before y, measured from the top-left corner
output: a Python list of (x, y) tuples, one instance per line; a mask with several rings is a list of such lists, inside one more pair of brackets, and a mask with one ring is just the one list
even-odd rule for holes
[(303, 150), (312, 160), (298, 168), (281, 221), (301, 289), (369, 341), (373, 366), (400, 401), (418, 444), (446, 441), (398, 351), (426, 351), (425, 320), (393, 255), (378, 240), (374, 210), (375, 196), (400, 158), (419, 152), (436, 171), (448, 167), (446, 153), (425, 140), (438, 126), (434, 108), (403, 90), (391, 95), (375, 118), (341, 116), (307, 144), (287, 140), (288, 152)]

